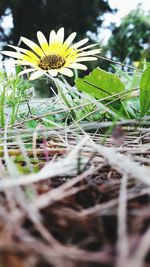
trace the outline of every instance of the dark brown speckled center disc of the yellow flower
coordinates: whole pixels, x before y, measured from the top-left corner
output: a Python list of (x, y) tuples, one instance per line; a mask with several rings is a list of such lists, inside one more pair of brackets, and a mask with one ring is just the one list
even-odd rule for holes
[(42, 70), (59, 69), (65, 64), (65, 59), (59, 55), (49, 55), (42, 58), (39, 62), (39, 67)]

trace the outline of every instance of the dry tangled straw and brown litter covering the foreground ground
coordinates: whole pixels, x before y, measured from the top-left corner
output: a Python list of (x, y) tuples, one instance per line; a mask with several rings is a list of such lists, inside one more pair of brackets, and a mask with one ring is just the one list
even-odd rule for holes
[(149, 266), (149, 135), (121, 127), (106, 139), (69, 129), (44, 140), (22, 130), (23, 143), (15, 130), (8, 135), (0, 266)]

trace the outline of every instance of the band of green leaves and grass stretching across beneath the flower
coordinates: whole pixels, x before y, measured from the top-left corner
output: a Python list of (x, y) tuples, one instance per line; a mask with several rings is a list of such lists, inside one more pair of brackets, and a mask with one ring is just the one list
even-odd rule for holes
[(36, 100), (30, 99), (27, 80), (18, 74), (8, 77), (3, 72), (0, 80), (1, 126), (5, 126), (6, 116), (11, 125), (16, 120), (21, 124), (24, 121), (30, 130), (38, 128), (39, 124), (48, 128), (64, 127), (74, 123), (144, 116), (150, 107), (150, 66), (143, 61), (142, 67), (146, 69), (144, 72), (133, 68), (128, 72), (114, 66), (115, 74), (96, 68), (89, 75), (77, 78), (76, 86), (55, 78), (57, 95)]

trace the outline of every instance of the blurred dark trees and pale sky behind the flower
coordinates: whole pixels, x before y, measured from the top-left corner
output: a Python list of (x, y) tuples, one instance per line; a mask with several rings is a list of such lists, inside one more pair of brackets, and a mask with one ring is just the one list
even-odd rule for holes
[[(0, 50), (7, 43), (17, 45), (20, 36), (37, 41), (38, 30), (48, 37), (51, 29), (62, 26), (66, 36), (78, 33), (76, 41), (88, 36), (97, 42), (102, 56), (128, 64), (139, 61), (143, 53), (149, 58), (148, 0), (0, 0)], [(96, 64), (110, 67), (102, 59)], [(5, 59), (5, 68), (12, 70), (10, 59)]]

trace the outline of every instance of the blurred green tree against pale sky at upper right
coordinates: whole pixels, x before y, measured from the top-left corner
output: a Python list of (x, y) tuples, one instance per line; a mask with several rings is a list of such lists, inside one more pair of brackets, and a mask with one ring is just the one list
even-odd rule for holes
[[(119, 61), (128, 58), (130, 61), (139, 61), (145, 44), (150, 38), (150, 14), (144, 14), (140, 8), (131, 11), (121, 21), (120, 26), (111, 26), (112, 35), (106, 51), (110, 50), (111, 56)], [(146, 53), (150, 54), (150, 50)]]

